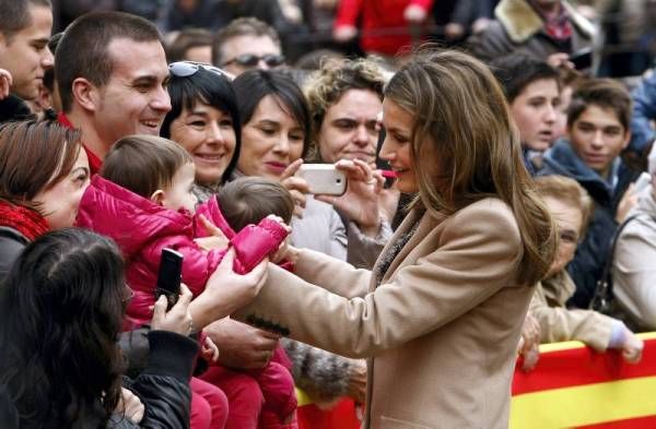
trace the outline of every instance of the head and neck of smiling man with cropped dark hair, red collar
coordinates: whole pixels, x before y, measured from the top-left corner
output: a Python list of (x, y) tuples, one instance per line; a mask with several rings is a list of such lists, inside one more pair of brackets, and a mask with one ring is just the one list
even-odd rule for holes
[(60, 121), (82, 130), (92, 172), (114, 142), (159, 135), (171, 110), (162, 36), (149, 21), (120, 12), (75, 20), (57, 48)]

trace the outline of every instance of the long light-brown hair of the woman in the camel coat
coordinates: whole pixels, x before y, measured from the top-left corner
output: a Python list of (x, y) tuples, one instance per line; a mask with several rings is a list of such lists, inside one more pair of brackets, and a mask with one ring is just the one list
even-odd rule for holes
[(419, 51), (391, 79), (385, 97), (417, 118), (414, 204), (453, 214), (487, 196), (501, 199), (524, 243), (518, 281), (539, 281), (554, 258), (557, 231), (524, 167), (518, 132), (488, 67), (458, 51)]

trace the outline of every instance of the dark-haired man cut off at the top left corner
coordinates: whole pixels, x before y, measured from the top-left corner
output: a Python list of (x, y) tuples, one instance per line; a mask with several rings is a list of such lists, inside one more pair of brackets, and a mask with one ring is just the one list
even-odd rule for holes
[(30, 114), (23, 100), (36, 99), (45, 70), (52, 67), (51, 31), (49, 0), (0, 0), (0, 69), (12, 75), (0, 122)]

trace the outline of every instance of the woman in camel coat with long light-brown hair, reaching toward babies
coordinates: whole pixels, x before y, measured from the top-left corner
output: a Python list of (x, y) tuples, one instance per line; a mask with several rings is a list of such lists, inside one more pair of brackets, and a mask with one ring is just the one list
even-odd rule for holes
[(269, 264), (233, 317), (370, 358), (365, 429), (506, 428), (522, 324), (557, 230), (504, 94), (472, 57), (418, 52), (385, 88), (383, 126), (380, 156), (417, 198), (374, 270), (290, 247), (296, 276)]

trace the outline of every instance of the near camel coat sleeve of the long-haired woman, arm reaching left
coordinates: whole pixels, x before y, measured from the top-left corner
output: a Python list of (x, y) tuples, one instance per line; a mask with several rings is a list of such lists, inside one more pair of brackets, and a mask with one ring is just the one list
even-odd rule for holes
[[(235, 317), (279, 324), (290, 337), (339, 355), (368, 357), (432, 332), (516, 284), (523, 248), (509, 211), (466, 208), (441, 227), (421, 242), (433, 251), (362, 298), (331, 294), (270, 266), (258, 297)], [(328, 283), (327, 266), (318, 270)], [(332, 274), (352, 284), (362, 281), (354, 269)]]

